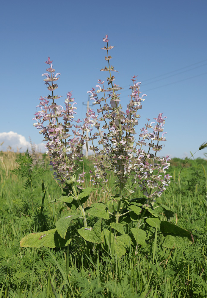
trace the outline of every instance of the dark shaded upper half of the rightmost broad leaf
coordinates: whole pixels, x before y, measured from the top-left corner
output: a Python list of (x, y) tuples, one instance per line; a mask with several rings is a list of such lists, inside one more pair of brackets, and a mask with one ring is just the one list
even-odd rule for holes
[(169, 221), (161, 221), (160, 232), (164, 235), (187, 237), (190, 240), (192, 239), (192, 234), (189, 231), (179, 226), (176, 226), (175, 224), (172, 224)]

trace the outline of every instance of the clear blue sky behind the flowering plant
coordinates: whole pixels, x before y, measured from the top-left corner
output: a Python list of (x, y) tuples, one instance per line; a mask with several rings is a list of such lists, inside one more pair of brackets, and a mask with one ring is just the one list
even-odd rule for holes
[(131, 76), (138, 75), (147, 94), (139, 128), (162, 112), (167, 117), (162, 154), (190, 156), (207, 141), (206, 12), (206, 0), (2, 2), (0, 148), (23, 150), (29, 136), (41, 143), (32, 118), (38, 98), (48, 95), (41, 77), (48, 56), (61, 73), (59, 103), (73, 90), (78, 117), (84, 117), (87, 91), (108, 76), (100, 72), (108, 34), (123, 107)]

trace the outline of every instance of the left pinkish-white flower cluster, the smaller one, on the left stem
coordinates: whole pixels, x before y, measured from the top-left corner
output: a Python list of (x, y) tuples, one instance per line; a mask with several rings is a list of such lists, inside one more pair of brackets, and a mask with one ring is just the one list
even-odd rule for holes
[[(55, 177), (64, 183), (65, 180), (70, 180), (71, 176), (74, 175), (78, 162), (82, 159), (85, 125), (81, 128), (80, 119), (74, 120), (77, 108), (71, 92), (67, 93), (65, 107), (56, 103), (60, 96), (54, 95), (54, 90), (58, 88), (54, 81), (59, 79), (57, 76), (60, 73), (54, 75), (55, 69), (53, 69), (50, 57), (45, 63), (49, 64), (49, 68), (46, 69), (49, 73), (42, 75), (46, 77), (43, 81), (47, 85), (47, 89), (52, 91), (52, 94), (47, 97), (40, 97), (40, 104), (37, 105), (40, 111), (35, 113), (33, 119), (37, 123), (34, 123), (34, 126), (40, 129), (39, 133), (44, 136), (43, 141), (47, 142), (45, 145), (46, 153), (51, 156), (50, 165), (52, 165)], [(76, 122), (76, 125), (73, 125), (73, 121)], [(80, 188), (81, 183), (84, 182), (84, 174), (82, 173), (77, 180), (80, 183)]]

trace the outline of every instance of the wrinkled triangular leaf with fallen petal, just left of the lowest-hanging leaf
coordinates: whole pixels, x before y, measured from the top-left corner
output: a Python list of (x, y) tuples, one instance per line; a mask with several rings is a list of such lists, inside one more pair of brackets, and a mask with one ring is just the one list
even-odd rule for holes
[(78, 229), (79, 235), (83, 237), (86, 241), (92, 243), (103, 243), (104, 238), (101, 233), (101, 219), (95, 223), (93, 227), (82, 227)]

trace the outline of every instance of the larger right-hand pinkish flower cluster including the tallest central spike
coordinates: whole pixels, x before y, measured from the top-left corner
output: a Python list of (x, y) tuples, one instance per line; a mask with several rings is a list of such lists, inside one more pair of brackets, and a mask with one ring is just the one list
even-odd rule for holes
[[(159, 142), (166, 140), (163, 126), (164, 119), (167, 117), (162, 117), (162, 113), (159, 113), (158, 118), (154, 118), (157, 123), (149, 123), (150, 119), (148, 119), (136, 141), (135, 128), (140, 118), (138, 112), (142, 109), (146, 94), (141, 95), (142, 92), (139, 90), (141, 83), (136, 82), (137, 76), (134, 75), (130, 86), (130, 100), (126, 111), (123, 111), (120, 105), (120, 93), (118, 93), (122, 88), (113, 84), (115, 76), (111, 72), (117, 71), (109, 63), (112, 57), (109, 56), (108, 51), (113, 46), (108, 46), (108, 35), (103, 41), (107, 43), (107, 46), (101, 49), (107, 50), (105, 60), (108, 61), (108, 65), (101, 71), (109, 72), (108, 88), (105, 89), (104, 81), (98, 80), (95, 88), (88, 91), (93, 105), (97, 105), (98, 108), (97, 114), (89, 110), (87, 118), (84, 119), (85, 127), (90, 132), (88, 138), (92, 142), (90, 149), (94, 151), (92, 157), (94, 170), (90, 172), (91, 181), (94, 185), (99, 184), (106, 192), (109, 192), (106, 184), (113, 171), (117, 177), (116, 187), (119, 189), (120, 196), (123, 189), (127, 189), (129, 194), (140, 189), (148, 200), (152, 201), (162, 194), (171, 178), (169, 174), (166, 174), (169, 156), (165, 158), (156, 156), (163, 146), (159, 145)], [(94, 134), (92, 134), (93, 129), (96, 129)], [(149, 132), (149, 129), (152, 129), (152, 132)], [(100, 149), (95, 146), (95, 139), (98, 139)], [(143, 149), (145, 146), (148, 146), (146, 150)]]

